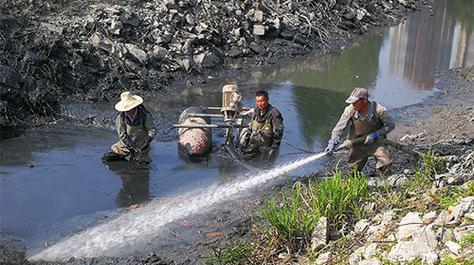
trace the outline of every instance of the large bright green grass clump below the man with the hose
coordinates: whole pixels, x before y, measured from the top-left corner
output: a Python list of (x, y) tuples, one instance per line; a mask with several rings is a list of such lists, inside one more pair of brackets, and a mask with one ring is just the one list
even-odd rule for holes
[(271, 196), (262, 211), (273, 241), (293, 250), (304, 249), (316, 223), (325, 216), (333, 227), (341, 227), (349, 216), (361, 216), (361, 202), (368, 197), (366, 177), (354, 172), (333, 176), (305, 185), (296, 182), (289, 194), (278, 200)]

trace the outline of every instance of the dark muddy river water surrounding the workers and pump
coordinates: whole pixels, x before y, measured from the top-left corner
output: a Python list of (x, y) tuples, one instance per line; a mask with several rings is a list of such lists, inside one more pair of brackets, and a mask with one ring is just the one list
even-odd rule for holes
[[(294, 147), (321, 151), (352, 87), (367, 87), (376, 101), (400, 108), (432, 94), (439, 71), (473, 65), (472, 9), (470, 0), (434, 1), (433, 15), (415, 13), (333, 54), (306, 56), (206, 85), (189, 84), (147, 99), (160, 126), (150, 170), (103, 165), (101, 155), (116, 140), (112, 104), (71, 104), (71, 116), (94, 117), (91, 126), (50, 125), (0, 142), (0, 236), (20, 239), (35, 252), (50, 241), (106, 223), (129, 205), (158, 203), (232, 181), (239, 169), (215, 156), (200, 163), (181, 160), (171, 128), (189, 105), (219, 105), (220, 87), (229, 81), (238, 82), (247, 106), (253, 105), (255, 91), (268, 89), (271, 103), (282, 112), (286, 128), (277, 163), (305, 155)], [(214, 132), (215, 149), (220, 134)], [(313, 172), (320, 165), (292, 174)]]

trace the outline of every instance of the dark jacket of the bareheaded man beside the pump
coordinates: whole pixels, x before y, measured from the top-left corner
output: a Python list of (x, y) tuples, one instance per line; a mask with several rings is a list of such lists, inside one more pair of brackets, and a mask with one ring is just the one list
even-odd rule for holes
[(283, 117), (271, 104), (264, 110), (255, 108), (250, 122), (250, 142), (254, 146), (280, 147), (283, 138)]

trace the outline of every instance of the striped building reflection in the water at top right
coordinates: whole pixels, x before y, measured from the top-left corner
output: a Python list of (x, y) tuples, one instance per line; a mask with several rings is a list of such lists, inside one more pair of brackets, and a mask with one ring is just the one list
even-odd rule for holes
[(432, 16), (410, 16), (390, 28), (391, 73), (410, 80), (417, 89), (432, 89), (434, 73), (472, 65), (472, 13), (457, 14), (461, 6), (472, 9), (472, 1), (435, 1)]

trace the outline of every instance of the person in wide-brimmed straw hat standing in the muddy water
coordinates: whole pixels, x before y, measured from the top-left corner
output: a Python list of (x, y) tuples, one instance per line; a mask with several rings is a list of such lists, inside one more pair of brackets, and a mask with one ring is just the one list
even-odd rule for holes
[(103, 161), (125, 160), (149, 164), (150, 143), (155, 138), (156, 127), (151, 113), (142, 105), (143, 98), (131, 92), (123, 92), (120, 102), (115, 104), (119, 114), (115, 120), (119, 141), (112, 145), (111, 151)]

